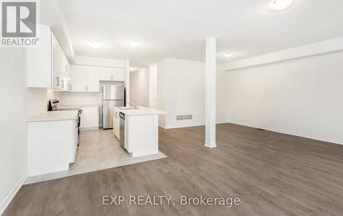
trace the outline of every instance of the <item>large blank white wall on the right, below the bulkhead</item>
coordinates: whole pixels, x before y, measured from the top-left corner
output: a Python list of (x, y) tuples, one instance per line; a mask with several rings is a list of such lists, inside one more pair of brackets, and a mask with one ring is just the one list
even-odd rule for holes
[(229, 122), (343, 144), (343, 53), (227, 72)]

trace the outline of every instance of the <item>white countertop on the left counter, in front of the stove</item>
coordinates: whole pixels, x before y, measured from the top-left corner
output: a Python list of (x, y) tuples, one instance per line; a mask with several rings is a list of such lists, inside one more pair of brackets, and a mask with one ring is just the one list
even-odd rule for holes
[(77, 120), (78, 111), (46, 111), (43, 114), (29, 118), (27, 122), (45, 122), (59, 120)]

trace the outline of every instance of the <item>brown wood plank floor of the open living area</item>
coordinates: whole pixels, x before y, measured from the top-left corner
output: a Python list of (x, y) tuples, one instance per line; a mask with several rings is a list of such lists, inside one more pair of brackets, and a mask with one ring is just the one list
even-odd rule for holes
[[(343, 146), (238, 126), (160, 130), (169, 158), (23, 186), (4, 215), (343, 215)], [(172, 195), (175, 206), (103, 206), (102, 195)], [(241, 205), (180, 206), (188, 197)]]

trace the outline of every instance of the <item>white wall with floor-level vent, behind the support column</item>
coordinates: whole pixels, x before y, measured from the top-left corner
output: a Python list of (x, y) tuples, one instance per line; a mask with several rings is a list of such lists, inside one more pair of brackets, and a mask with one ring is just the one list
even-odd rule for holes
[[(217, 64), (217, 123), (226, 121), (227, 72)], [(163, 59), (157, 63), (157, 109), (159, 125), (164, 128), (204, 125), (205, 122), (205, 63), (182, 59)], [(176, 120), (176, 115), (192, 114), (193, 120)]]

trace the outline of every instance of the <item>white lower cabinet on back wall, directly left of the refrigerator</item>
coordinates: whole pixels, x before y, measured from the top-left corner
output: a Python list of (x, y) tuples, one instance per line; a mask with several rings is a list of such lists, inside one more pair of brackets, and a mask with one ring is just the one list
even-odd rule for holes
[(81, 107), (82, 130), (99, 129), (99, 107)]

